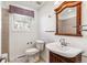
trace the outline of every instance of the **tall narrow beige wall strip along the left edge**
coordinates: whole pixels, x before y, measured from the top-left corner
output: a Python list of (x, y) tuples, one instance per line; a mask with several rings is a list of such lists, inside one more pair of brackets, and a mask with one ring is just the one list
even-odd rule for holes
[(7, 9), (2, 10), (2, 52), (1, 53), (9, 53), (9, 12)]

